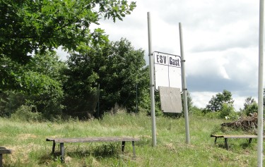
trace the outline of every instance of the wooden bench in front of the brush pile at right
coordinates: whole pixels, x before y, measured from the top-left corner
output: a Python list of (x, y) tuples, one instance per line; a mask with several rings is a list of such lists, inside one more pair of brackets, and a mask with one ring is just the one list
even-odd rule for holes
[[(249, 139), (249, 144), (252, 142), (252, 139), (257, 138), (257, 135), (211, 135), (211, 137), (217, 138), (224, 138), (225, 139), (225, 148), (228, 149), (228, 139), (234, 138), (234, 139)], [(214, 144), (216, 144), (216, 140), (214, 140)]]

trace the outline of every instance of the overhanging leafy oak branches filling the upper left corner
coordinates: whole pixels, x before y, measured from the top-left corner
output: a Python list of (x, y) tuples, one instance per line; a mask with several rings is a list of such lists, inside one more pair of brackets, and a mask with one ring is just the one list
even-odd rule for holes
[(100, 18), (122, 20), (135, 7), (126, 0), (1, 0), (0, 56), (26, 63), (33, 51), (98, 44), (107, 37), (101, 29), (90, 31), (90, 25)]

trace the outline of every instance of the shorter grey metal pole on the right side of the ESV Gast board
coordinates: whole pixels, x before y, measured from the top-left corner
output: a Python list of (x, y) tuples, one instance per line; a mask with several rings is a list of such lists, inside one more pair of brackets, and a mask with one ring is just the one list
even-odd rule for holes
[(182, 58), (182, 89), (184, 101), (184, 117), (185, 117), (185, 130), (186, 130), (186, 143), (189, 144), (189, 116), (188, 116), (188, 103), (187, 103), (187, 85), (185, 76), (185, 58), (182, 44), (182, 25), (179, 23), (179, 40), (180, 40), (180, 55)]

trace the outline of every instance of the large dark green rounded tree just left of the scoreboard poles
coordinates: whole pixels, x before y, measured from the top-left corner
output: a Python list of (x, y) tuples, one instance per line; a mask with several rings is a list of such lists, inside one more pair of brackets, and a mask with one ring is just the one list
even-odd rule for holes
[(100, 111), (109, 111), (116, 103), (136, 111), (136, 102), (145, 97), (148, 89), (143, 57), (143, 51), (135, 50), (126, 39), (71, 54), (66, 70), (69, 78), (64, 86), (67, 113), (74, 116), (78, 111), (78, 116), (83, 117), (94, 114), (98, 86)]

